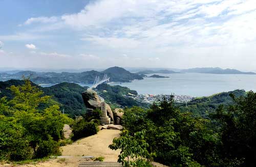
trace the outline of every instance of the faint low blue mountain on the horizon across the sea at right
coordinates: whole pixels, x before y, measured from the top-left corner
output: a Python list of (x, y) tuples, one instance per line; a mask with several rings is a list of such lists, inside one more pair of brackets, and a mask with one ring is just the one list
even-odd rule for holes
[(222, 69), (222, 68), (190, 68), (181, 70), (181, 72), (195, 72), (208, 74), (256, 74), (254, 72), (242, 72), (236, 69)]

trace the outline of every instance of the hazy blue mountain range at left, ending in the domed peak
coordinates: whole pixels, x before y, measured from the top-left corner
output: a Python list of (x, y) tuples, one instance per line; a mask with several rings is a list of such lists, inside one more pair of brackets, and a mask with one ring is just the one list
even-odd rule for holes
[(93, 84), (96, 76), (103, 78), (105, 73), (110, 77), (110, 81), (129, 82), (134, 79), (143, 79), (143, 76), (139, 74), (131, 73), (120, 67), (111, 67), (102, 72), (91, 70), (80, 73), (35, 71), (20, 71), (14, 74), (0, 73), (0, 80), (22, 79), (22, 76), (25, 76), (30, 77), (30, 80), (36, 84), (58, 84), (61, 82)]

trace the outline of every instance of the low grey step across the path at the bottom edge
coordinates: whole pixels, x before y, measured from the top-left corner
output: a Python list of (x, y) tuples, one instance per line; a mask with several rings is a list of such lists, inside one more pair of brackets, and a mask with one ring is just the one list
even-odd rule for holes
[(110, 162), (110, 161), (82, 161), (79, 163), (78, 167), (121, 167), (122, 164), (118, 162)]

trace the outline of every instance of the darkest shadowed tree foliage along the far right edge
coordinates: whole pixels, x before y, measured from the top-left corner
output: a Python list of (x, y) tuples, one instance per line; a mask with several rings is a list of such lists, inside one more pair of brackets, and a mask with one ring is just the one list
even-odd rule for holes
[(256, 158), (256, 93), (248, 92), (245, 97), (235, 98), (235, 104), (224, 108), (221, 105), (212, 118), (221, 129), (222, 156), (224, 164), (237, 163), (239, 166), (255, 166)]

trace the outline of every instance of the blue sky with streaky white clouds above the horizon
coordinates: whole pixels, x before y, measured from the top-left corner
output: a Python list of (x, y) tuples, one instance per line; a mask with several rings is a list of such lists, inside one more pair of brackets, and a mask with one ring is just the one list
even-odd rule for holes
[(0, 0), (0, 67), (256, 70), (255, 0)]

